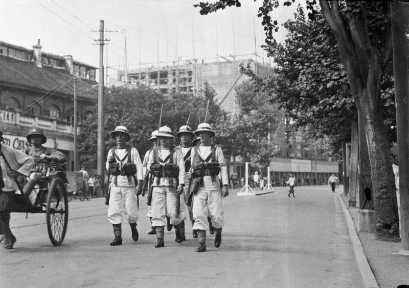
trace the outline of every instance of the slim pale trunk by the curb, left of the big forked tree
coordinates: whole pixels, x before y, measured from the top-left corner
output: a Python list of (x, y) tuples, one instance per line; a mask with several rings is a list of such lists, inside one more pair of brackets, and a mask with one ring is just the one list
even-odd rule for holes
[(359, 189), (359, 172), (358, 172), (358, 127), (355, 121), (352, 121), (351, 129), (351, 164), (350, 164), (350, 178), (349, 178), (349, 201), (350, 207), (356, 207), (356, 191)]

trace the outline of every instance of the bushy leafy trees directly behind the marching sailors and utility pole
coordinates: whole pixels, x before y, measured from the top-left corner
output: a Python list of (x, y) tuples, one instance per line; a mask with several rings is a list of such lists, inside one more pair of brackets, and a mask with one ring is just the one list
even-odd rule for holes
[[(228, 119), (227, 114), (215, 103), (215, 96), (214, 89), (208, 83), (205, 83), (203, 90), (198, 91), (197, 95), (173, 93), (164, 96), (146, 86), (134, 89), (124, 87), (109, 89), (105, 93), (104, 104), (105, 155), (111, 147), (115, 146), (115, 141), (110, 137), (109, 132), (118, 125), (128, 128), (131, 135), (129, 145), (137, 147), (141, 155), (148, 150), (151, 145), (148, 141), (151, 132), (158, 128), (162, 103), (161, 126), (169, 126), (174, 135), (181, 125), (186, 125), (190, 113), (189, 125), (192, 129), (197, 127), (199, 120), (204, 121), (208, 99), (210, 99), (208, 123), (225, 121)], [(94, 107), (93, 114), (80, 123), (78, 148), (88, 153), (90, 161), (95, 160), (97, 156), (97, 109)], [(178, 144), (177, 138), (174, 144)]]

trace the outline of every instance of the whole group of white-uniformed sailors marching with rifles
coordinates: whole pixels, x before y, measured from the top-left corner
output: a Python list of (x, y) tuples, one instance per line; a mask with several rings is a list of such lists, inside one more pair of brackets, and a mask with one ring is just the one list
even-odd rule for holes
[(106, 162), (110, 175), (108, 219), (114, 234), (110, 245), (122, 244), (123, 207), (132, 240), (138, 241), (137, 197), (145, 194), (144, 187), (148, 185), (148, 234), (156, 234), (156, 248), (165, 246), (165, 226), (168, 231), (173, 226), (177, 243), (185, 241), (188, 218), (193, 237), (198, 238), (196, 251), (206, 251), (207, 230), (215, 232), (214, 246), (218, 248), (224, 224), (221, 198), (229, 195), (229, 178), (222, 149), (211, 143), (215, 136), (212, 127), (201, 123), (193, 132), (190, 126), (181, 126), (176, 133), (180, 145), (176, 147), (172, 130), (160, 127), (149, 138), (152, 148), (145, 153), (143, 162), (138, 150), (126, 144), (131, 136), (125, 126), (117, 126), (110, 135), (117, 143), (109, 150)]

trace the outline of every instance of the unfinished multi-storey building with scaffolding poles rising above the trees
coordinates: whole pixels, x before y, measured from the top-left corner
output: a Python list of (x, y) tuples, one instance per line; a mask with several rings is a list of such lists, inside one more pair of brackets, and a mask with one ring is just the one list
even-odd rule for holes
[(188, 95), (200, 91), (207, 82), (216, 91), (216, 101), (221, 108), (228, 113), (236, 114), (234, 88), (248, 80), (248, 76), (240, 73), (240, 65), (244, 67), (249, 65), (257, 75), (266, 74), (270, 67), (252, 59), (213, 63), (187, 60), (181, 65), (120, 70), (116, 79), (109, 80), (109, 86), (146, 85), (164, 95), (172, 92)]

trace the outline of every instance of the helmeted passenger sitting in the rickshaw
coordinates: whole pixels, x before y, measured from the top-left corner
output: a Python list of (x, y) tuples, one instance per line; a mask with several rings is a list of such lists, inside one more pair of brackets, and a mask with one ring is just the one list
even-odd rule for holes
[[(28, 151), (28, 155), (31, 156), (35, 162), (27, 184), (22, 189), (24, 195), (28, 197), (33, 191), (34, 186), (41, 179), (41, 176), (47, 175), (49, 168), (53, 164), (52, 162), (62, 164), (67, 161), (67, 158), (60, 151), (42, 146), (42, 144), (47, 142), (47, 137), (44, 135), (42, 129), (32, 128), (26, 138), (32, 145)], [(65, 170), (64, 167), (59, 167), (59, 169)], [(36, 204), (34, 203), (35, 197), (36, 195), (30, 195), (30, 198), (32, 198), (30, 200), (34, 205)]]

